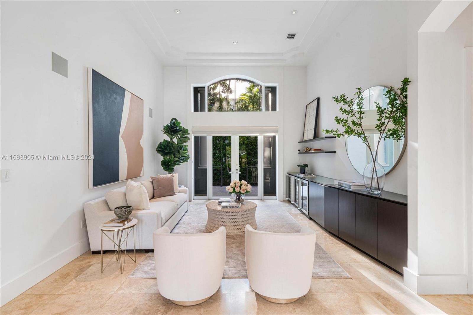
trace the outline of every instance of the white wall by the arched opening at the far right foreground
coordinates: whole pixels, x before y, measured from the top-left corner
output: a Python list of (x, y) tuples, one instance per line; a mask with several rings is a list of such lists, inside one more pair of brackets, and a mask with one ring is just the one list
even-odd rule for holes
[(418, 37), (418, 211), (417, 231), (409, 230), (417, 236), (417, 259), (408, 262), (404, 282), (419, 294), (468, 292), (473, 227), (465, 184), (473, 175), (473, 132), (472, 87), (464, 80), (472, 63), (467, 69), (464, 47), (473, 46), (472, 17), (470, 4), (445, 32)]

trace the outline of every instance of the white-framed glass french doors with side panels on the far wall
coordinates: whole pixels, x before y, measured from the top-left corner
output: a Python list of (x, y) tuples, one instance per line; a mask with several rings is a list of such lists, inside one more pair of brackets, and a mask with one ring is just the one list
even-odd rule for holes
[(276, 136), (193, 137), (195, 199), (229, 197), (234, 180), (251, 184), (245, 199), (276, 199)]

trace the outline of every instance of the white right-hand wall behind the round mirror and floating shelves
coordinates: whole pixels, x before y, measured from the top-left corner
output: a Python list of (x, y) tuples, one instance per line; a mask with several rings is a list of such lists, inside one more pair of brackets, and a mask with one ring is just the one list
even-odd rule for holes
[[(407, 15), (407, 1), (359, 1), (318, 49), (307, 66), (306, 102), (320, 97), (318, 136), (323, 135), (322, 129), (337, 127), (333, 118), (339, 115), (340, 105), (333, 102), (332, 96), (345, 93), (353, 97), (357, 87), (398, 87), (409, 75)], [(305, 108), (301, 109), (301, 115), (303, 110)], [(302, 162), (309, 165), (311, 173), (362, 180), (363, 177), (350, 164), (343, 138), (311, 145), (337, 151), (322, 156), (305, 155)], [(385, 190), (407, 194), (406, 152), (387, 175)]]

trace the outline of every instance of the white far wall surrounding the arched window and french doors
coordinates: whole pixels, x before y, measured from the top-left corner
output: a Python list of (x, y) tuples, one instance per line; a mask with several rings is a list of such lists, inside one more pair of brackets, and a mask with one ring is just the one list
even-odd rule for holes
[[(278, 112), (195, 113), (192, 112), (192, 84), (206, 84), (225, 75), (245, 75), (264, 83), (279, 84)], [(193, 126), (276, 126), (278, 138), (278, 197), (283, 198), (284, 174), (297, 169), (297, 141), (302, 135), (303, 113), (298, 108), (306, 97), (305, 67), (165, 67), (164, 68), (164, 121), (175, 117), (184, 127)], [(300, 133), (300, 135), (299, 135)], [(192, 155), (192, 144), (189, 142)], [(295, 165), (293, 165), (295, 164)], [(192, 192), (192, 164), (178, 166), (179, 183)], [(182, 175), (181, 175), (182, 174)], [(282, 183), (282, 184), (281, 184)]]

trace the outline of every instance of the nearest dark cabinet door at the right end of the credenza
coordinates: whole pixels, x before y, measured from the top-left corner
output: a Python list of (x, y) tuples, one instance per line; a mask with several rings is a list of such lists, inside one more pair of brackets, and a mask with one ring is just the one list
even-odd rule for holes
[(378, 201), (378, 256), (383, 263), (399, 272), (407, 266), (407, 207)]

